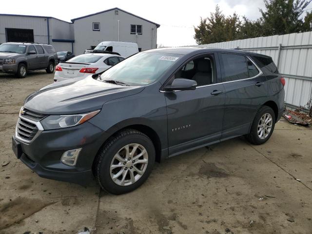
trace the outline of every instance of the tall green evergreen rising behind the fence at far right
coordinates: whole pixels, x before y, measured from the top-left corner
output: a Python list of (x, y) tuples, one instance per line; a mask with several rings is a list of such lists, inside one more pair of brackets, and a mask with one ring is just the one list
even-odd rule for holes
[(301, 15), (312, 0), (264, 0), (260, 10), (265, 36), (299, 33), (303, 30)]

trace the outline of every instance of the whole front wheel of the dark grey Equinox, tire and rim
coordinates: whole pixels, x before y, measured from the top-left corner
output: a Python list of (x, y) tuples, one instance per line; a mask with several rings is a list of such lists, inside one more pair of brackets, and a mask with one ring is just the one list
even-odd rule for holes
[(100, 150), (96, 177), (105, 191), (128, 193), (144, 183), (154, 162), (151, 139), (137, 130), (127, 129), (111, 137)]

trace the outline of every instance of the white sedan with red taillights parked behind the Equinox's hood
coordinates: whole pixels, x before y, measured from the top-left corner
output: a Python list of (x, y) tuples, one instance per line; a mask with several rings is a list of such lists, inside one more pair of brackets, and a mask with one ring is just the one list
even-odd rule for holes
[(123, 59), (121, 56), (110, 54), (78, 55), (56, 66), (54, 82), (72, 78), (83, 79), (90, 74), (101, 73)]

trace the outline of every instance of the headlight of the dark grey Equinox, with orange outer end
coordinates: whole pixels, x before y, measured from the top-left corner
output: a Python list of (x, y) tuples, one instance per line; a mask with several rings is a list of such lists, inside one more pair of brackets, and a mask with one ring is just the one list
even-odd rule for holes
[(45, 117), (40, 121), (40, 123), (44, 130), (68, 128), (88, 121), (90, 118), (96, 116), (99, 112), (100, 110), (78, 115), (52, 115)]

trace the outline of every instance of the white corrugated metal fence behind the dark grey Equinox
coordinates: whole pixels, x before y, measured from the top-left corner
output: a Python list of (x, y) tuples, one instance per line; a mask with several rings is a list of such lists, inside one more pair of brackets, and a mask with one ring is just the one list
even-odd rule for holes
[(285, 104), (306, 106), (312, 98), (312, 32), (233, 40), (195, 47), (250, 51), (271, 56), (285, 77)]

